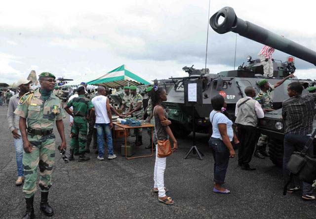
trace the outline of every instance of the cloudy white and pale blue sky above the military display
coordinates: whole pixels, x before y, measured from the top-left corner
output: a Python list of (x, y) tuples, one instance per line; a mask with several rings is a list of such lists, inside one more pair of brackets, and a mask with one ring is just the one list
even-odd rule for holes
[[(314, 4), (314, 5), (313, 5)], [(211, 0), (237, 16), (316, 50), (315, 3), (307, 0)], [(183, 66), (205, 66), (208, 0), (4, 1), (0, 7), (0, 82), (30, 71), (79, 78), (122, 64), (147, 80), (185, 76)], [(207, 68), (234, 69), (235, 33), (209, 28)], [(257, 56), (262, 44), (237, 36), (236, 65)], [(287, 54), (276, 51), (275, 59)], [(295, 60), (299, 78), (316, 79), (316, 67)]]

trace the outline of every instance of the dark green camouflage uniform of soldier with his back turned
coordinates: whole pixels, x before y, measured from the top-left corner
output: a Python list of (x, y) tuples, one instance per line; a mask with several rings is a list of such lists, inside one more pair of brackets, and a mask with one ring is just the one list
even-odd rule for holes
[(74, 150), (74, 153), (77, 153), (79, 149), (79, 154), (84, 154), (88, 131), (86, 116), (90, 112), (90, 109), (93, 108), (93, 104), (84, 95), (79, 95), (79, 97), (75, 97), (69, 101), (67, 106), (74, 108), (75, 115), (74, 124), (71, 128), (72, 137), (70, 147)]

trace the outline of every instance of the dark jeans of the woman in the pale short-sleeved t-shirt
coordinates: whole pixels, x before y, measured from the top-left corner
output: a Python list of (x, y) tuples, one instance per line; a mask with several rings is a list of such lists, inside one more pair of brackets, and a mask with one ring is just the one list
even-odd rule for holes
[(211, 137), (208, 144), (214, 157), (214, 182), (224, 184), (229, 162), (229, 149), (219, 138)]

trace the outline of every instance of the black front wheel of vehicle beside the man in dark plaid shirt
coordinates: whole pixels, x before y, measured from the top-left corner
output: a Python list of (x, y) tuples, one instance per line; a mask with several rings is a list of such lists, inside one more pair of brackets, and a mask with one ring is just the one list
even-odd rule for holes
[(283, 164), (283, 142), (278, 139), (270, 139), (268, 142), (269, 155), (272, 163), (278, 167)]

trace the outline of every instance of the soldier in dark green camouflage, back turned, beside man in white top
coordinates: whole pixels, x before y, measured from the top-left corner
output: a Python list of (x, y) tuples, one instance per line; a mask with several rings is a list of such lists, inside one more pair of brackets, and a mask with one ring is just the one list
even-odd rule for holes
[[(71, 128), (71, 141), (70, 141), (70, 157), (69, 160), (74, 160), (74, 153), (77, 151), (77, 146), (79, 145), (79, 160), (78, 162), (90, 160), (88, 156), (85, 156), (85, 146), (87, 142), (87, 117), (91, 114), (91, 109), (93, 105), (91, 101), (84, 96), (85, 88), (79, 87), (77, 89), (78, 97), (73, 98), (65, 106), (66, 112), (74, 117), (74, 123)], [(73, 112), (69, 109), (73, 107)]]

